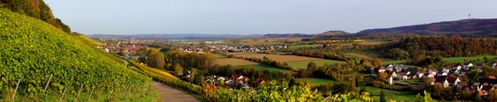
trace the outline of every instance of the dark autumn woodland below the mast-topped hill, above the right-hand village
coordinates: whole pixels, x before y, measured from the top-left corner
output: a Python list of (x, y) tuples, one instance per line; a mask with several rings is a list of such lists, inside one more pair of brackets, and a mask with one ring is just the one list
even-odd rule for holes
[(441, 57), (495, 55), (496, 45), (495, 40), (481, 38), (410, 36), (376, 47), (376, 50), (401, 60), (406, 59), (406, 56), (414, 58), (421, 55)]

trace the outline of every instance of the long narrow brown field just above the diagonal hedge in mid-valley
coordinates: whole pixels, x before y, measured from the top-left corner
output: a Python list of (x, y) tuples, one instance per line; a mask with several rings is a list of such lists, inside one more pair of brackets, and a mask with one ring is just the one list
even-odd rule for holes
[(250, 53), (228, 53), (228, 55), (234, 56), (243, 56), (243, 57), (256, 57), (263, 59), (264, 56), (269, 57), (271, 60), (280, 61), (280, 62), (303, 62), (303, 61), (317, 61), (323, 60), (319, 58), (305, 57), (305, 56), (297, 56), (297, 55), (266, 55), (266, 54), (250, 54)]

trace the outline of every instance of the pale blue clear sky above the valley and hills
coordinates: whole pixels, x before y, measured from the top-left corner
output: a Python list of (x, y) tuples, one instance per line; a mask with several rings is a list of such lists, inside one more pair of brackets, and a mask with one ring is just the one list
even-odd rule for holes
[(84, 34), (357, 33), (497, 18), (497, 0), (44, 0)]

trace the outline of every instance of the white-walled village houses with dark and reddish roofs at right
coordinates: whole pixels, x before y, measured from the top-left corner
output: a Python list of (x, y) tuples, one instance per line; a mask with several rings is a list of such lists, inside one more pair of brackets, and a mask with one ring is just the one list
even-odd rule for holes
[[(497, 68), (497, 62), (492, 62), (490, 66), (492, 68)], [(416, 72), (413, 70), (416, 70)], [(478, 91), (481, 96), (485, 96), (487, 91), (497, 88), (497, 79), (495, 79), (495, 76), (480, 77), (478, 81), (464, 80), (463, 76), (473, 70), (478, 73), (484, 71), (481, 64), (474, 66), (472, 63), (446, 67), (441, 70), (421, 69), (417, 66), (402, 64), (388, 64), (386, 67), (382, 66), (371, 70), (371, 75), (379, 76), (379, 74), (387, 74), (387, 84), (394, 84), (396, 82), (401, 83), (402, 80), (408, 79), (418, 79), (424, 80), (432, 85), (439, 83), (444, 88), (458, 87), (463, 89), (463, 91)], [(469, 84), (469, 82), (475, 83)]]

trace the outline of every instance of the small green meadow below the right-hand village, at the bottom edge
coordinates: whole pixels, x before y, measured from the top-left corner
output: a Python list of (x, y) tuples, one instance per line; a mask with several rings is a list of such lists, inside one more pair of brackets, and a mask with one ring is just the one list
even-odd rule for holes
[[(413, 93), (411, 91), (393, 91), (388, 89), (381, 89), (372, 86), (364, 86), (366, 90), (371, 93), (371, 96), (379, 101), (379, 94), (383, 90), (386, 96), (386, 100), (392, 98), (394, 100), (410, 100), (412, 98), (416, 98), (417, 93)], [(357, 90), (361, 90), (361, 87), (357, 87)]]

